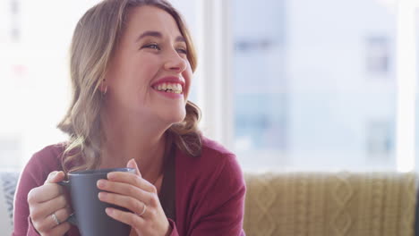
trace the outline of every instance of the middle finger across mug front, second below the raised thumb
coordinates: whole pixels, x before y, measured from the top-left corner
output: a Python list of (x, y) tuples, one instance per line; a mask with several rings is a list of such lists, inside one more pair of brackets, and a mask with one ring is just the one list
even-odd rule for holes
[(106, 190), (106, 191), (117, 193), (124, 196), (129, 196), (129, 197), (138, 199), (141, 202), (145, 202), (148, 205), (152, 203), (152, 198), (156, 197), (155, 194), (151, 192), (141, 190), (137, 186), (134, 186), (129, 183), (124, 183), (124, 182), (99, 180), (98, 189)]

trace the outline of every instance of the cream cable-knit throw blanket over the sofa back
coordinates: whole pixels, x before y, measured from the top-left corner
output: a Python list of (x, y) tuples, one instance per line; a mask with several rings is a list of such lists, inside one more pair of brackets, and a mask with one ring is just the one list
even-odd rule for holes
[(414, 173), (246, 173), (247, 236), (413, 236)]

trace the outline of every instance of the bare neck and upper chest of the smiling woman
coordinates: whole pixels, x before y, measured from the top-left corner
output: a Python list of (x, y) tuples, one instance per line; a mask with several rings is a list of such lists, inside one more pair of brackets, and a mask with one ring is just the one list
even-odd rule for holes
[(142, 177), (153, 183), (163, 173), (166, 129), (144, 125), (148, 122), (138, 119), (130, 122), (113, 118), (102, 120), (107, 138), (102, 141), (100, 168), (124, 167), (135, 159)]

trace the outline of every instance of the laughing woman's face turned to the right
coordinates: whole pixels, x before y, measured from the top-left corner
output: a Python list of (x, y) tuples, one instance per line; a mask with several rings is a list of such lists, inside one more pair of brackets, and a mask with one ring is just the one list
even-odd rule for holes
[(107, 108), (167, 123), (184, 120), (192, 69), (175, 19), (154, 6), (131, 10), (107, 70)]

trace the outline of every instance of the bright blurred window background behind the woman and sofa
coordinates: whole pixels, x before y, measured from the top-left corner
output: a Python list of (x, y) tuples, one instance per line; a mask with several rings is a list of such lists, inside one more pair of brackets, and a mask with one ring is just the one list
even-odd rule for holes
[[(170, 2), (200, 56), (201, 129), (244, 171), (419, 170), (419, 1)], [(96, 3), (0, 0), (0, 169), (66, 139), (68, 48)]]

